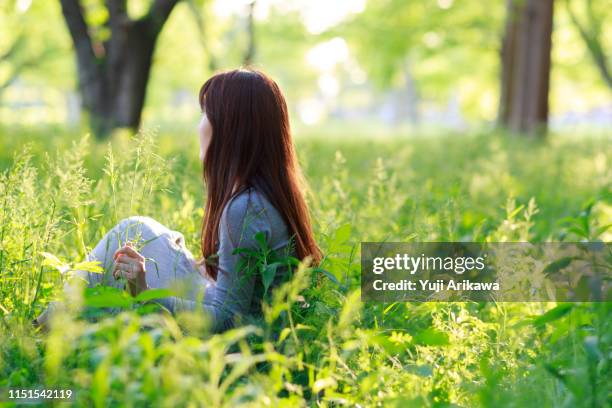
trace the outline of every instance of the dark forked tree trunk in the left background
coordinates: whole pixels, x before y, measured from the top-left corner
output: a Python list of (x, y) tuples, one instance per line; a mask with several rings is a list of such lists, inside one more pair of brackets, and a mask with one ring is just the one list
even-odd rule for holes
[(100, 43), (90, 36), (79, 1), (61, 0), (77, 57), (81, 103), (97, 137), (119, 127), (138, 129), (155, 43), (177, 1), (155, 0), (144, 17), (131, 20), (125, 0), (106, 0), (111, 35)]

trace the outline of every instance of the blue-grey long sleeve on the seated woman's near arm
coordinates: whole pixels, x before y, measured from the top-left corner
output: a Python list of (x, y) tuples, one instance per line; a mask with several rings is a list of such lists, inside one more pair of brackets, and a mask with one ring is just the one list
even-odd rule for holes
[[(231, 200), (221, 215), (217, 281), (206, 291), (204, 302), (200, 304), (212, 319), (213, 332), (234, 327), (236, 319), (250, 310), (256, 279), (254, 262), (235, 250), (257, 249), (255, 236), (258, 233), (269, 242), (271, 224), (265, 207), (249, 190)], [(177, 297), (161, 299), (160, 303), (172, 312), (198, 307), (196, 301)]]

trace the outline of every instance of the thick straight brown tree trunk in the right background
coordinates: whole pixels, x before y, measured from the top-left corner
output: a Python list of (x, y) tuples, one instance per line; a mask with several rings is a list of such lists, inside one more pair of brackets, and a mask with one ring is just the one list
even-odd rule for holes
[(498, 122), (544, 134), (548, 122), (554, 0), (508, 0)]

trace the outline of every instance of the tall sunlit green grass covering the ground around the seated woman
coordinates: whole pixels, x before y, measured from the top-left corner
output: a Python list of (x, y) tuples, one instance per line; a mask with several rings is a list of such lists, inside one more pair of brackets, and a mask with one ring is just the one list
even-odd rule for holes
[(198, 314), (137, 304), (84, 318), (78, 294), (45, 335), (28, 322), (64, 277), (43, 252), (79, 262), (135, 214), (198, 252), (197, 138), (119, 136), (109, 147), (57, 129), (1, 133), (2, 389), (70, 388), (86, 406), (610, 403), (608, 303), (375, 304), (358, 289), (361, 241), (610, 241), (598, 230), (612, 219), (609, 137), (302, 134), (329, 276), (301, 268), (261, 326), (223, 335)]

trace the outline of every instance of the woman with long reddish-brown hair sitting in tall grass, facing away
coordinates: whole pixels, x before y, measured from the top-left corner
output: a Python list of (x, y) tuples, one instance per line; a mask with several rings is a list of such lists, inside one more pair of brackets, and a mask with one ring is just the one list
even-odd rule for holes
[[(109, 273), (78, 275), (89, 286), (119, 286), (116, 279), (124, 278), (132, 296), (187, 282), (191, 290), (185, 296), (158, 302), (172, 312), (201, 307), (212, 320), (212, 331), (221, 332), (240, 317), (258, 313), (268, 285), (282, 279), (279, 269), (275, 282), (264, 285), (246, 254), (265, 244), (317, 264), (321, 251), (301, 192), (287, 105), (278, 85), (262, 72), (233, 70), (206, 81), (199, 100), (207, 187), (202, 259), (194, 260), (182, 234), (151, 218), (131, 217), (109, 231), (88, 257), (101, 261), (114, 279)], [(140, 250), (138, 241), (144, 242)], [(44, 323), (46, 315), (37, 322)]]

